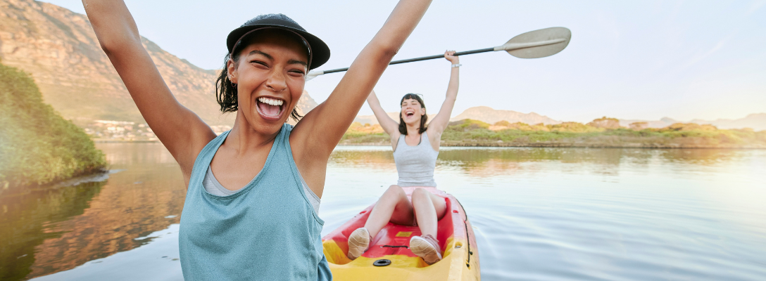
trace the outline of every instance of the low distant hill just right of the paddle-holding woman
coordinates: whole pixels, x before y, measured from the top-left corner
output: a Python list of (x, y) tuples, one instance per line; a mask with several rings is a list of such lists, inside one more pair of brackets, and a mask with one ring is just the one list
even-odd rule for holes
[(561, 124), (561, 121), (555, 121), (548, 118), (548, 116), (538, 115), (535, 112), (521, 113), (512, 110), (496, 110), (489, 106), (468, 108), (463, 113), (460, 113), (460, 115), (450, 118), (450, 121), (463, 119), (479, 120), (489, 124), (495, 124), (498, 121), (522, 122), (526, 124)]

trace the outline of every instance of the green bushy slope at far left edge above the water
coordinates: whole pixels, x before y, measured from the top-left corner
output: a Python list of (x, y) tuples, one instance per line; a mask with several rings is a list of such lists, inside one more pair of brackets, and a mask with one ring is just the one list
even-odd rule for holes
[(64, 120), (31, 77), (0, 63), (0, 192), (103, 170), (93, 141)]

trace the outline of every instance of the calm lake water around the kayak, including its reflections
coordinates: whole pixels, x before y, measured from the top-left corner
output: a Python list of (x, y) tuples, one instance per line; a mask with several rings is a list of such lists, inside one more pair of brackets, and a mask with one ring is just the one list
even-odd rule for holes
[[(97, 144), (109, 175), (0, 197), (0, 279), (182, 279), (185, 186), (161, 144)], [(444, 147), (484, 280), (764, 280), (766, 150)], [(338, 147), (327, 234), (397, 179), (390, 147)]]

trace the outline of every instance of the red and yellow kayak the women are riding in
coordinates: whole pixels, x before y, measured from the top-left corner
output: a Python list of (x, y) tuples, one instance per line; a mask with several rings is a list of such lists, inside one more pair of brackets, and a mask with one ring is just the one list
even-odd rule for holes
[[(404, 187), (411, 197), (414, 187)], [(463, 206), (450, 194), (434, 187), (423, 188), (443, 197), (447, 214), (438, 222), (437, 240), (442, 260), (428, 265), (409, 249), (410, 238), (421, 235), (420, 228), (388, 223), (356, 260), (349, 260), (349, 235), (362, 228), (372, 211), (371, 205), (322, 237), (325, 257), (336, 280), (480, 280), (479, 249)]]

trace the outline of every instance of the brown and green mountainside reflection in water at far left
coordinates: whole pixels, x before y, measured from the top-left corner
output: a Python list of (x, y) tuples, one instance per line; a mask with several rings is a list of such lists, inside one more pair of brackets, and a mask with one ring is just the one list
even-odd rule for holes
[(2, 235), (3, 280), (69, 270), (149, 243), (151, 238), (135, 238), (178, 223), (186, 190), (162, 144), (97, 147), (110, 169), (123, 171), (104, 182), (0, 199), (8, 208), (0, 228), (11, 234)]

